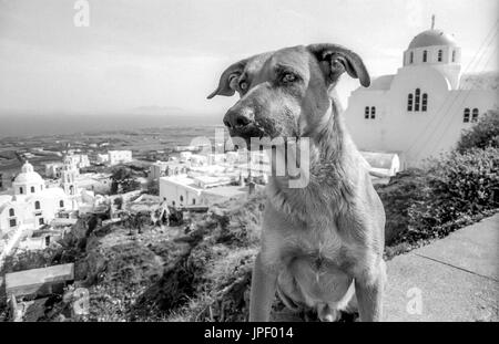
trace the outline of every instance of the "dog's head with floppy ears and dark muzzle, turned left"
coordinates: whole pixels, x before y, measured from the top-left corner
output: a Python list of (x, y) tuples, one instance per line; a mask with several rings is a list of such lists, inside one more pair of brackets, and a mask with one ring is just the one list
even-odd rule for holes
[(252, 137), (301, 137), (324, 121), (328, 93), (344, 72), (363, 86), (370, 83), (361, 59), (340, 45), (286, 48), (232, 64), (208, 98), (240, 94), (224, 124), (247, 144)]

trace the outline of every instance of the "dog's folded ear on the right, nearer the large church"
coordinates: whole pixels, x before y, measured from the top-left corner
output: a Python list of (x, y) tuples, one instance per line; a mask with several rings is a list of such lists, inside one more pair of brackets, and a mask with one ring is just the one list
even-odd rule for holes
[(352, 77), (358, 79), (360, 85), (370, 85), (369, 73), (363, 60), (355, 52), (337, 44), (310, 44), (307, 50), (319, 62), (323, 73), (329, 83), (335, 83), (343, 72), (347, 72)]

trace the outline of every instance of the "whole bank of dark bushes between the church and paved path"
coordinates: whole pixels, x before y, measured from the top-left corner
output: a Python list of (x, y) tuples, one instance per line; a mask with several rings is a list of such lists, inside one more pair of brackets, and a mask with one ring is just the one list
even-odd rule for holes
[(387, 213), (388, 256), (498, 211), (498, 166), (499, 115), (492, 111), (464, 133), (455, 150), (378, 187)]

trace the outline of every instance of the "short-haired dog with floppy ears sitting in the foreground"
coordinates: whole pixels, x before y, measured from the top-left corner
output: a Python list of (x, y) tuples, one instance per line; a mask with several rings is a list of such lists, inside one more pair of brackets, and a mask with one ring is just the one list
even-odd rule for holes
[(285, 48), (232, 64), (208, 95), (240, 94), (223, 119), (232, 137), (249, 145), (263, 136), (309, 142), (308, 170), (299, 167), (308, 174), (304, 187), (289, 187), (288, 174), (269, 176), (249, 321), (269, 321), (276, 293), (320, 321), (337, 321), (340, 311), (383, 319), (385, 211), (329, 96), (344, 72), (369, 86), (363, 60), (344, 46)]

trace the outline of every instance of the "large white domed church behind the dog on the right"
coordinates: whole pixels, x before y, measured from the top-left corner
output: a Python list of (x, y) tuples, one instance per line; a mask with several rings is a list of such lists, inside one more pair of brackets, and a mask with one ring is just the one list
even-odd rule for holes
[(424, 31), (410, 41), (395, 75), (350, 94), (344, 116), (348, 131), (360, 150), (395, 153), (401, 169), (419, 166), (452, 148), (462, 129), (498, 107), (497, 85), (470, 86), (470, 77), (461, 75), (454, 37)]

